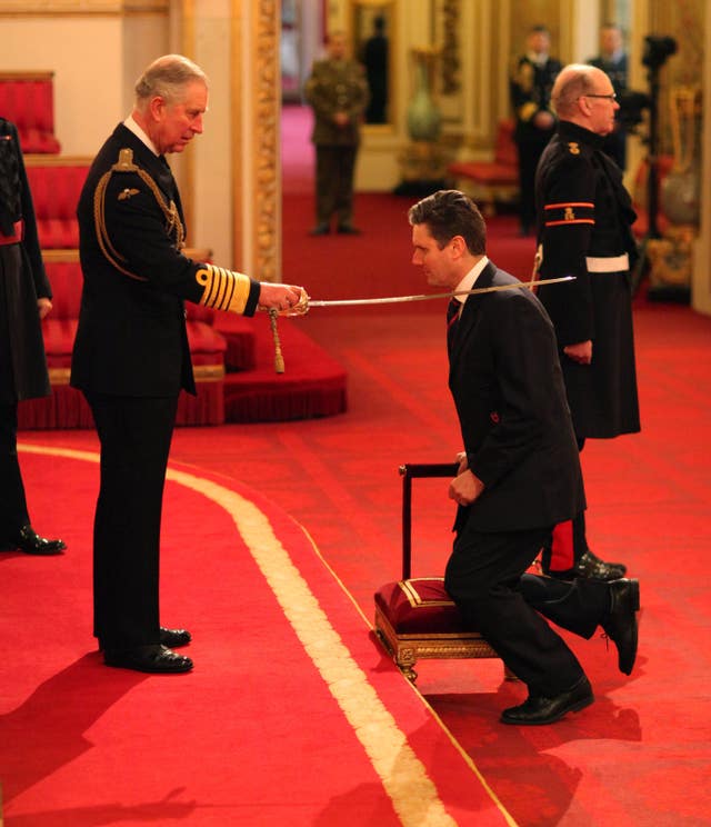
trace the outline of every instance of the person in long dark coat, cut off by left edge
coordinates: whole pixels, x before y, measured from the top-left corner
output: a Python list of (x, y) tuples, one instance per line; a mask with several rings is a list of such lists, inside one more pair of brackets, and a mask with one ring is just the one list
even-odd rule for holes
[(0, 550), (57, 555), (30, 525), (18, 461), (18, 401), (51, 393), (40, 321), (52, 308), (18, 130), (0, 118)]

